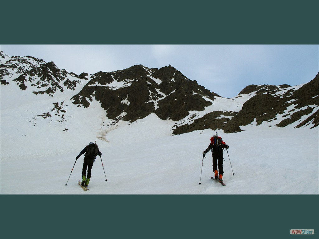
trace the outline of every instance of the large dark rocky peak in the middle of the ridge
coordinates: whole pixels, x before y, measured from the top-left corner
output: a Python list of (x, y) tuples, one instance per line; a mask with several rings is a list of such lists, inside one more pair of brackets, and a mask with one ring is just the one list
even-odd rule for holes
[(214, 94), (189, 80), (171, 65), (160, 69), (136, 65), (115, 72), (98, 72), (72, 100), (88, 107), (94, 97), (114, 119), (135, 121), (155, 113), (160, 119), (178, 121), (190, 111), (211, 105)]

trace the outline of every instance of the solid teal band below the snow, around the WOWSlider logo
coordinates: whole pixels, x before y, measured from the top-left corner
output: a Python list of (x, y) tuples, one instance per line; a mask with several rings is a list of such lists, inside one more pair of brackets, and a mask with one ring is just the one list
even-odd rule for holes
[(1, 234), (10, 237), (288, 238), (290, 229), (318, 230), (314, 210), (318, 195), (1, 195), (0, 198), (2, 205), (6, 205), (0, 218)]

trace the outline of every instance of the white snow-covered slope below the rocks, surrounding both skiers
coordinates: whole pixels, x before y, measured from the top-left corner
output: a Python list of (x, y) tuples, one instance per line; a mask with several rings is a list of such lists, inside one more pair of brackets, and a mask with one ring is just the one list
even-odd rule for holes
[[(202, 155), (215, 131), (173, 135), (176, 121), (155, 113), (132, 123), (115, 122), (94, 98), (87, 99), (87, 108), (72, 103), (85, 81), (54, 97), (21, 91), (16, 84), (0, 85), (0, 194), (319, 194), (319, 127), (294, 129), (298, 122), (274, 127), (282, 120), (278, 115), (258, 127), (253, 121), (240, 133), (218, 129), (230, 146), (229, 155), (224, 153), (227, 185), (222, 187), (210, 179), (211, 154), (204, 161)], [(255, 93), (216, 97), (179, 123), (213, 111), (239, 112)], [(91, 141), (102, 157), (93, 165), (91, 190), (84, 192), (77, 184), (84, 156), (75, 157)]]

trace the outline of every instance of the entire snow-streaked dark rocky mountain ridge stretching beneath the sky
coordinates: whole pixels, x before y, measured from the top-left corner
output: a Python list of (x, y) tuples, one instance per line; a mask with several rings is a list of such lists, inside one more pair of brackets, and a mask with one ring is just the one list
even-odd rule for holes
[[(161, 120), (172, 121), (172, 134), (204, 129), (235, 133), (249, 124), (309, 128), (319, 125), (319, 74), (298, 86), (249, 85), (230, 99), (205, 89), (171, 65), (159, 69), (134, 65), (89, 76), (69, 73), (58, 69), (54, 62), (31, 56), (9, 57), (0, 51), (0, 60), (3, 90), (17, 85), (29, 95), (32, 92), (35, 96), (59, 98), (51, 103), (54, 114), (60, 117), (56, 120), (59, 125), (67, 115), (72, 117), (68, 103), (80, 109), (89, 108), (93, 101), (104, 110), (103, 118), (112, 122), (105, 125), (101, 122), (101, 127), (118, 127), (120, 121), (133, 123), (152, 113)], [(34, 118), (39, 115), (45, 116), (43, 119), (52, 118), (49, 113), (52, 108), (43, 110), (47, 112)]]

